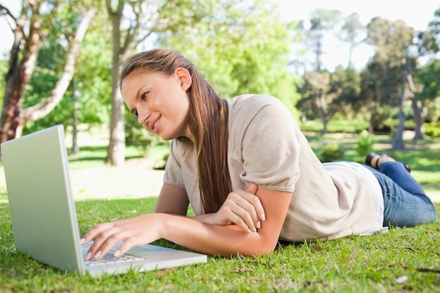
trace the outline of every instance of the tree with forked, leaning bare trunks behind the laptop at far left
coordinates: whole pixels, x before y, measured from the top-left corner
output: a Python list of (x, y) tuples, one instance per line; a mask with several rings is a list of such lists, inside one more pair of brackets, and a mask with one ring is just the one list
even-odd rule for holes
[[(8, 8), (1, 6), (4, 15), (13, 21), (11, 27), (14, 33), (13, 46), (9, 58), (9, 69), (6, 75), (6, 91), (4, 95), (3, 112), (0, 121), (0, 142), (20, 136), (27, 121), (35, 121), (51, 112), (63, 98), (67, 86), (75, 71), (75, 59), (79, 47), (89, 25), (89, 21), (96, 13), (91, 8), (86, 11), (68, 6), (70, 3), (49, 1), (23, 1), (19, 18), (15, 18)], [(68, 6), (68, 8), (67, 8)], [(76, 7), (76, 6), (75, 6)], [(55, 22), (65, 11), (76, 11), (77, 17), (73, 23), (76, 27), (74, 34), (62, 34), (67, 41), (65, 67), (56, 86), (46, 100), (29, 108), (22, 108), (25, 86), (30, 81), (37, 62), (40, 48), (49, 28), (56, 27)]]

